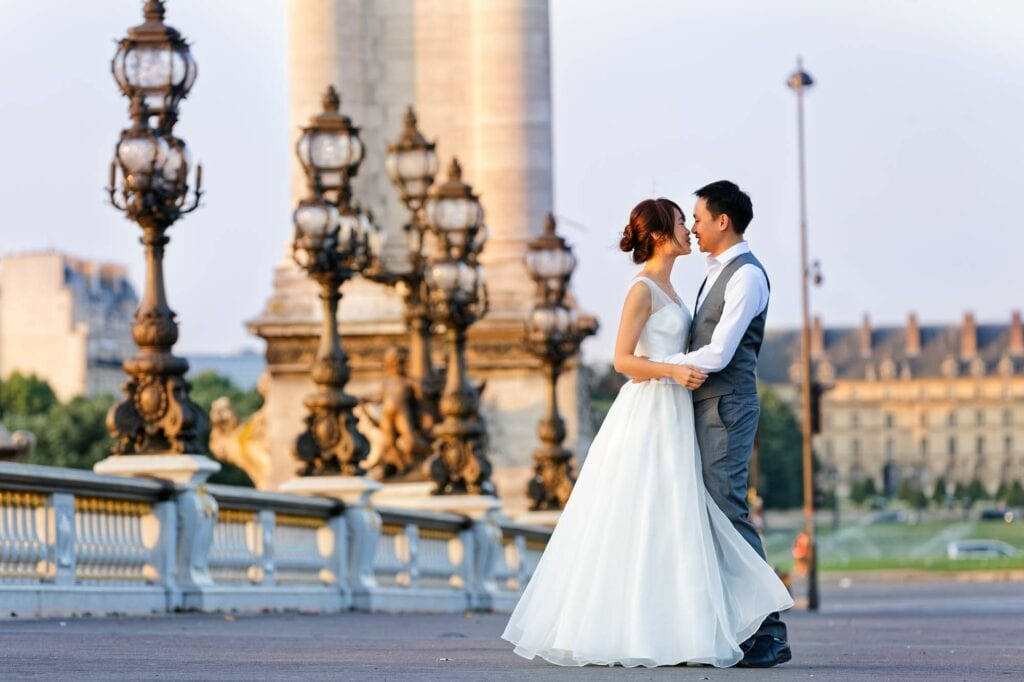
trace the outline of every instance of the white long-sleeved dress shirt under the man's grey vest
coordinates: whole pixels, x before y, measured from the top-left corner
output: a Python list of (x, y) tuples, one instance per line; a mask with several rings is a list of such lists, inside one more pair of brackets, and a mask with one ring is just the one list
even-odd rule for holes
[[(708, 257), (708, 281), (697, 299), (697, 307), (693, 311), (694, 317), (725, 266), (740, 254), (750, 252), (750, 245), (740, 242), (718, 256)], [(711, 335), (711, 343), (687, 353), (675, 353), (660, 359), (654, 357), (651, 359), (670, 365), (689, 365), (708, 374), (721, 372), (732, 361), (732, 356), (751, 321), (764, 312), (767, 307), (768, 279), (765, 278), (764, 271), (753, 263), (742, 265), (733, 272), (732, 279), (725, 285), (725, 306), (722, 309), (722, 317)], [(662, 380), (663, 383), (670, 381), (673, 380), (668, 378)]]

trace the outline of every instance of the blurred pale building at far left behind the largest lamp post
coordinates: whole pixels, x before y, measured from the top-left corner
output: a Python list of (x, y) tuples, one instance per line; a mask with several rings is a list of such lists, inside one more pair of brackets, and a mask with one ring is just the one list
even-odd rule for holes
[(117, 393), (138, 297), (122, 265), (60, 253), (0, 260), (0, 379), (46, 380), (60, 400)]

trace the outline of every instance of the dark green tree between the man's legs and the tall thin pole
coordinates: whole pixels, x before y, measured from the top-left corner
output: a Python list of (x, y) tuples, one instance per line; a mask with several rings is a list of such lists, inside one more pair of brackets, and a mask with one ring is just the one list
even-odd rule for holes
[(771, 389), (761, 390), (758, 494), (766, 509), (804, 503), (803, 435), (793, 410)]

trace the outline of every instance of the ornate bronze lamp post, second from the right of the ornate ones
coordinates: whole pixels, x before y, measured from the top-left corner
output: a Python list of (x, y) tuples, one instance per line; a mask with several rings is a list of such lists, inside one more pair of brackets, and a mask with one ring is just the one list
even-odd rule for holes
[(432, 432), (434, 494), (494, 495), (479, 391), (466, 377), (466, 330), (487, 311), (483, 269), (477, 261), (486, 230), (483, 209), (473, 188), (462, 181), (458, 160), (452, 160), (447, 181), (430, 193), (425, 218), (436, 239), (425, 274), (430, 311), (449, 340), (441, 422)]

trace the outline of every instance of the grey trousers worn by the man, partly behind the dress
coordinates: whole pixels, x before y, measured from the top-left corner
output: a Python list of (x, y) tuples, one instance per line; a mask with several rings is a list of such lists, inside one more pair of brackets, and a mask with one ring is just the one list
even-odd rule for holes
[[(764, 558), (746, 507), (746, 477), (760, 415), (757, 393), (729, 393), (693, 403), (705, 487), (743, 540)], [(757, 634), (786, 639), (785, 624), (772, 613)]]

